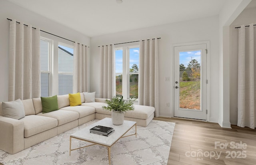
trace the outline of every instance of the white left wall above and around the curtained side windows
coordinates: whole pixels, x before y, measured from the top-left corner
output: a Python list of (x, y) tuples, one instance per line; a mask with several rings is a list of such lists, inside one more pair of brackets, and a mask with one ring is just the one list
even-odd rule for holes
[[(53, 22), (47, 18), (44, 18), (38, 14), (30, 12), (24, 8), (21, 8), (20, 6), (12, 4), (7, 0), (0, 0), (0, 13), (0, 102), (8, 101), (9, 20), (7, 20), (6, 18), (16, 19), (16, 21), (18, 22), (24, 22), (24, 24), (31, 24), (33, 27), (39, 27), (41, 30), (44, 30), (46, 32), (90, 46), (89, 37), (84, 36), (83, 34), (67, 28), (61, 24)], [(54, 48), (56, 50), (54, 52), (57, 54), (58, 42), (73, 45), (73, 42), (54, 37), (44, 32), (41, 32), (41, 36), (54, 40)], [(56, 60), (56, 58), (58, 59), (58, 56), (54, 58)], [(54, 91), (52, 94), (58, 93)]]

